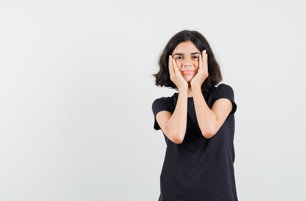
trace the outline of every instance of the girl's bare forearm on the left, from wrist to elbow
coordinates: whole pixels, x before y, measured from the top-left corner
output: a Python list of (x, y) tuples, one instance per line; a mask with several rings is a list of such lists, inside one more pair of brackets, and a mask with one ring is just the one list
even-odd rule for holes
[(187, 94), (188, 88), (178, 89), (178, 99), (171, 118), (167, 124), (167, 131), (175, 135), (178, 141), (183, 141), (187, 127)]

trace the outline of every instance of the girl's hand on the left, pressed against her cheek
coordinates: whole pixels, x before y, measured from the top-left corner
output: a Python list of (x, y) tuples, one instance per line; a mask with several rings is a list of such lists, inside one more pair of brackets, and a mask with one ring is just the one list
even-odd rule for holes
[(170, 80), (175, 84), (177, 89), (180, 89), (182, 87), (188, 88), (188, 83), (183, 78), (181, 72), (178, 70), (175, 59), (173, 59), (171, 55), (169, 55), (169, 73)]

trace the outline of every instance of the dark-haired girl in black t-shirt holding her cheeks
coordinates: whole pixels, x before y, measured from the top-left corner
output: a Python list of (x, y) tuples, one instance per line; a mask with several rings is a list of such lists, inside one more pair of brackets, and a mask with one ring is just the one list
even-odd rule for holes
[[(154, 129), (167, 149), (158, 201), (238, 201), (234, 175), (234, 91), (202, 34), (175, 34), (159, 57), (155, 85), (176, 89), (154, 100)], [(216, 85), (219, 84), (217, 87)]]

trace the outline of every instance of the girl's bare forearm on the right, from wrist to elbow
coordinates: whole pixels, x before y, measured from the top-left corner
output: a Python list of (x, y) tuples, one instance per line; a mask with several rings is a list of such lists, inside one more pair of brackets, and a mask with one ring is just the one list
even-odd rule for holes
[(192, 86), (192, 92), (199, 128), (205, 138), (210, 138), (217, 125), (217, 116), (208, 107), (200, 86)]

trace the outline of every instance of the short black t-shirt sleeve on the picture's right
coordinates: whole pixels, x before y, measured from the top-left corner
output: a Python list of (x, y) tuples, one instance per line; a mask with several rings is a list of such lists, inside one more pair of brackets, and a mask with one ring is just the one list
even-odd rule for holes
[(234, 90), (232, 87), (224, 83), (220, 84), (216, 89), (214, 102), (220, 98), (227, 98), (232, 102), (233, 108), (230, 114), (234, 114), (237, 110), (237, 105), (234, 100)]

